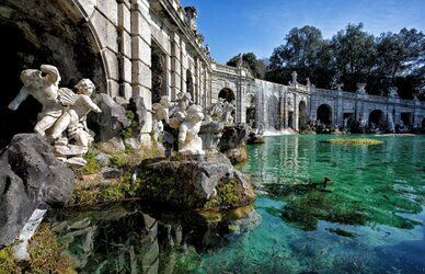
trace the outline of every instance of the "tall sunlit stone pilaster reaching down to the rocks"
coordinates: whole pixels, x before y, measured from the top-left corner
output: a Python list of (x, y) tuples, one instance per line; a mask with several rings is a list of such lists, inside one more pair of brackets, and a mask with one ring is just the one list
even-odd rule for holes
[[(131, 88), (133, 96), (141, 96), (148, 110), (152, 107), (151, 28), (148, 0), (131, 0)], [(140, 130), (140, 140), (150, 144), (152, 115), (148, 113)]]

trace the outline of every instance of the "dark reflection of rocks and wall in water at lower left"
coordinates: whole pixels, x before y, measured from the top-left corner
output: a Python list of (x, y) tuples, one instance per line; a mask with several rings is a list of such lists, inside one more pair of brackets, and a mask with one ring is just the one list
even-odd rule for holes
[(81, 273), (184, 273), (200, 267), (202, 253), (226, 247), (261, 220), (250, 207), (225, 217), (208, 221), (195, 213), (123, 204), (57, 212), (49, 221)]

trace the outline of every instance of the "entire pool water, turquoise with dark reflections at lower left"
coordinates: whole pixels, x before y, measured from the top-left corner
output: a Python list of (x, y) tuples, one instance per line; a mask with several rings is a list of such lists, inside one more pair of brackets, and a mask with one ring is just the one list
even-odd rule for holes
[(425, 137), (367, 137), (383, 144), (249, 146), (260, 194), (239, 220), (135, 204), (51, 218), (88, 273), (425, 273)]

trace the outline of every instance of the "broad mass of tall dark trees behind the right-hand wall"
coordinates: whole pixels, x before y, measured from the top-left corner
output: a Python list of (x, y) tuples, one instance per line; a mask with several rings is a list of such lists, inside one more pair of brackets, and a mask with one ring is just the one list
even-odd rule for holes
[(358, 82), (366, 82), (369, 93), (384, 95), (394, 85), (402, 98), (425, 90), (425, 35), (415, 28), (375, 37), (361, 23), (348, 24), (324, 39), (314, 26), (295, 27), (269, 61), (266, 80), (285, 84), (295, 70), (299, 82), (309, 77), (319, 88), (343, 83), (344, 90), (356, 91)]

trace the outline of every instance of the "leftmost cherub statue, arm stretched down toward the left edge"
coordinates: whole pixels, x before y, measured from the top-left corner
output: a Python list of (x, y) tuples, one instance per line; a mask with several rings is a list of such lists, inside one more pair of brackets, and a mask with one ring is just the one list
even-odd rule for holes
[[(46, 76), (43, 77), (42, 73)], [(12, 111), (18, 110), (28, 95), (35, 98), (42, 105), (42, 113), (38, 114), (38, 122), (34, 130), (43, 136), (62, 114), (62, 106), (58, 102), (58, 90), (60, 76), (56, 67), (42, 65), (41, 69), (25, 69), (21, 72), (21, 88), (18, 96), (9, 104)]]

